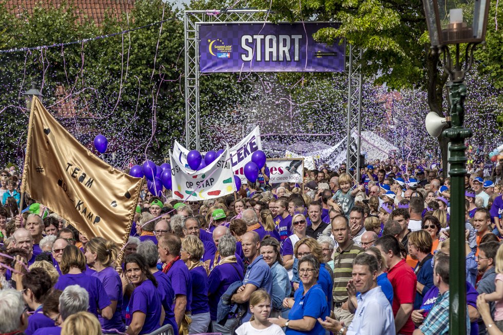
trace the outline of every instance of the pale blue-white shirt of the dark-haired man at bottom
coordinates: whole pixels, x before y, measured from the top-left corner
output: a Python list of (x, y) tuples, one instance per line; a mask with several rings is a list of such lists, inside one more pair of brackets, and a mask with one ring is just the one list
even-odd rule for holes
[(380, 286), (357, 299), (358, 308), (346, 335), (395, 335), (393, 309)]

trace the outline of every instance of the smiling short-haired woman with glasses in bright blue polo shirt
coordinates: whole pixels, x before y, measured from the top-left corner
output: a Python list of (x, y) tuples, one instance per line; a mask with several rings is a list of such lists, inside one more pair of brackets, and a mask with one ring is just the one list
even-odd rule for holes
[(270, 318), (269, 321), (286, 328), (286, 335), (324, 335), (325, 329), (317, 321), (324, 320), (329, 314), (325, 292), (318, 281), (320, 263), (313, 255), (299, 260), (299, 274), (302, 288), (295, 291), (294, 299), (286, 298), (284, 307), (292, 308), (288, 319)]

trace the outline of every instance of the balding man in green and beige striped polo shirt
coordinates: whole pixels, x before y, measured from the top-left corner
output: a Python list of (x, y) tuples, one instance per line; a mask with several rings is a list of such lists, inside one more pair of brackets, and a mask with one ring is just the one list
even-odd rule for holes
[(335, 318), (349, 326), (354, 314), (347, 306), (347, 283), (352, 279), (353, 261), (363, 249), (351, 239), (349, 220), (344, 215), (338, 215), (332, 220), (332, 234), (339, 244), (334, 253), (334, 313)]

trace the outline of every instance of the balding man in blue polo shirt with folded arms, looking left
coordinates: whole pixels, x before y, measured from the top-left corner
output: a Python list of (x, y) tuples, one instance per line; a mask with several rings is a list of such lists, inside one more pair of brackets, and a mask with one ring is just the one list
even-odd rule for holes
[[(246, 269), (243, 285), (233, 294), (231, 300), (234, 303), (242, 304), (248, 302), (251, 293), (259, 288), (264, 289), (272, 297), (273, 274), (260, 254), (260, 237), (255, 231), (245, 233), (241, 238), (243, 252), (249, 265)], [(243, 316), (243, 322), (249, 321), (251, 312), (247, 311)]]

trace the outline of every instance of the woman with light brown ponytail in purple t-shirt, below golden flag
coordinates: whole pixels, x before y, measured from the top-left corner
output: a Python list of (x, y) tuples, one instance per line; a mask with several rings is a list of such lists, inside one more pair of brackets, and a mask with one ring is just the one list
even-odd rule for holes
[(122, 281), (119, 273), (113, 268), (113, 263), (117, 259), (117, 246), (104, 238), (93, 238), (86, 243), (84, 255), (87, 265), (96, 271), (92, 273), (92, 277), (98, 278), (103, 283), (108, 299), (112, 303), (112, 318), (110, 320), (101, 316), (98, 318), (104, 332), (124, 332), (125, 327), (122, 322)]

